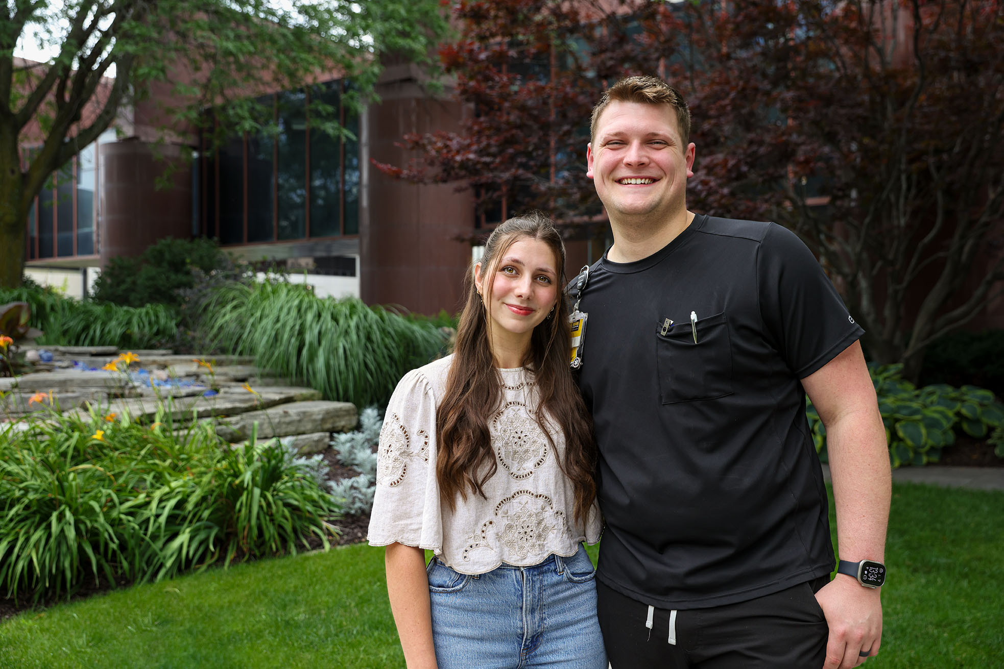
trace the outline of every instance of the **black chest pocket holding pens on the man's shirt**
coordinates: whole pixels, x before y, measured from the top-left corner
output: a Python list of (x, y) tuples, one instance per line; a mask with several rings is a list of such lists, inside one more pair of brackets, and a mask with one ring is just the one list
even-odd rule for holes
[(725, 314), (697, 322), (697, 343), (687, 321), (666, 334), (656, 329), (656, 367), (663, 404), (732, 394), (732, 343)]

